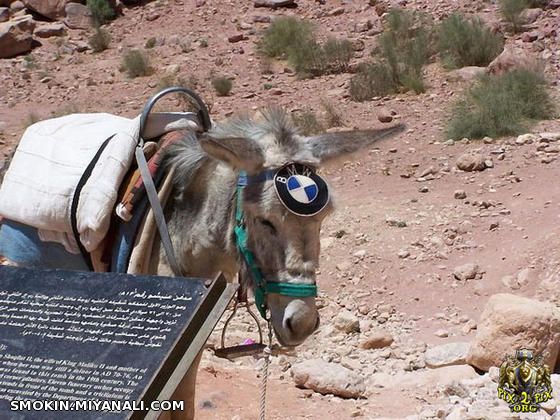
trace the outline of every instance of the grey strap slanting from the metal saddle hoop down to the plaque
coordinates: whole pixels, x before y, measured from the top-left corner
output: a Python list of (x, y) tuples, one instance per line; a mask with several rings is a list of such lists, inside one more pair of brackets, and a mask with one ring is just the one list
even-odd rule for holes
[(154, 213), (154, 220), (156, 222), (159, 236), (161, 238), (161, 243), (163, 249), (165, 250), (165, 255), (167, 256), (167, 261), (171, 267), (171, 271), (175, 276), (181, 276), (181, 269), (177, 263), (177, 258), (175, 257), (175, 252), (173, 251), (173, 245), (171, 244), (171, 237), (169, 236), (169, 230), (167, 229), (167, 223), (165, 222), (165, 217), (163, 215), (163, 209), (161, 208), (161, 203), (157, 195), (156, 187), (154, 185), (154, 180), (150, 175), (150, 170), (148, 169), (148, 162), (146, 162), (146, 157), (144, 156), (144, 151), (141, 144), (143, 141), (139, 141), (134, 154), (136, 156), (136, 162), (138, 162), (138, 168), (140, 169), (140, 176), (144, 182), (146, 188), (146, 194), (148, 195), (148, 200), (152, 206), (152, 211)]

